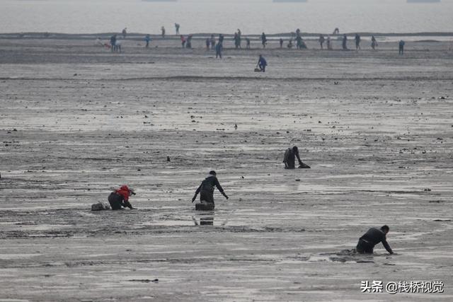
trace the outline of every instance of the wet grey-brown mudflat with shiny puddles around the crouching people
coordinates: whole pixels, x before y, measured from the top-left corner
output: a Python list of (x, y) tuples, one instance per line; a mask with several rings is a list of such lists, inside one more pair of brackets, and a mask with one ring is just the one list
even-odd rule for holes
[[(265, 74), (261, 50), (92, 44), (0, 40), (0, 298), (452, 300), (446, 43), (271, 47)], [(293, 145), (311, 169), (282, 169)], [(231, 198), (195, 212), (211, 169)], [(89, 211), (124, 183), (139, 210)], [(382, 224), (398, 255), (341, 252)], [(362, 294), (364, 280), (445, 293)]]

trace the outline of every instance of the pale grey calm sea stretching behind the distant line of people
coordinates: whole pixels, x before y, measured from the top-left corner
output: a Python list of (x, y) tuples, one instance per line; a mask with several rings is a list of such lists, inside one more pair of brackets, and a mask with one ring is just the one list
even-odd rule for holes
[(0, 0), (0, 32), (168, 34), (302, 32), (453, 32), (453, 0), (410, 4), (406, 0)]

